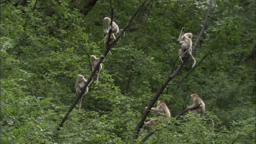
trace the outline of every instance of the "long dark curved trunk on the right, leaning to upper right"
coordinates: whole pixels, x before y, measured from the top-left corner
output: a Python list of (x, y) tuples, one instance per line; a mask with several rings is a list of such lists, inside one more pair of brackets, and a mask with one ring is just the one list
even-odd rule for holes
[[(194, 52), (194, 50), (196, 49), (196, 47), (198, 46), (199, 42), (200, 42), (200, 39), (202, 38), (202, 35), (204, 33), (204, 30), (206, 28), (206, 23), (208, 21), (208, 17), (210, 16), (210, 10), (211, 10), (211, 7), (212, 7), (212, 0), (210, 0), (210, 3), (209, 3), (209, 7), (208, 7), (208, 11), (207, 11), (207, 14), (206, 14), (206, 17), (205, 17), (205, 20), (204, 20), (204, 25), (200, 31), (200, 34), (196, 40), (196, 43), (194, 45), (194, 49), (192, 50), (192, 52)], [(167, 84), (170, 82), (170, 80), (172, 80), (175, 76), (178, 75), (178, 72), (180, 72), (181, 68), (184, 66), (185, 62), (184, 63), (181, 63), (178, 68), (176, 69), (176, 71), (171, 74), (170, 76), (168, 76), (168, 78), (166, 78), (166, 80), (164, 81), (164, 83), (162, 84), (162, 86), (160, 87), (160, 89), (156, 92), (156, 95), (152, 98), (152, 100), (150, 101), (149, 105), (148, 105), (148, 108), (146, 108), (144, 114), (142, 115), (142, 118), (140, 120), (140, 122), (137, 124), (136, 126), (136, 129), (134, 131), (134, 136), (133, 138), (134, 139), (137, 139), (138, 138), (138, 135), (139, 135), (139, 132), (140, 132), (140, 129), (142, 128), (143, 124), (144, 124), (144, 121), (148, 115), (148, 112), (149, 110), (152, 108), (152, 106), (154, 105), (154, 103), (157, 101), (157, 99), (159, 98), (159, 96), (161, 95), (161, 93), (163, 92), (164, 88), (167, 86)]]

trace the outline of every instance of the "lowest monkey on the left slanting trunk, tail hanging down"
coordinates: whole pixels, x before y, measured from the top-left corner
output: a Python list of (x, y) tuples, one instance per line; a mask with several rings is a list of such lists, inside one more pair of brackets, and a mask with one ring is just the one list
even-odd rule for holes
[[(84, 76), (81, 75), (81, 74), (78, 74), (77, 81), (76, 81), (76, 84), (75, 84), (75, 89), (76, 89), (76, 95), (77, 96), (78, 96), (79, 93), (81, 93), (81, 90), (84, 87), (86, 82), (87, 82), (87, 80), (84, 78)], [(90, 82), (90, 84), (91, 84), (91, 82)], [(90, 84), (88, 84), (88, 86)], [(86, 86), (86, 89), (84, 90), (84, 93), (82, 94), (82, 97), (80, 98), (79, 112), (80, 112), (80, 108), (81, 108), (82, 98), (88, 92), (88, 86)]]

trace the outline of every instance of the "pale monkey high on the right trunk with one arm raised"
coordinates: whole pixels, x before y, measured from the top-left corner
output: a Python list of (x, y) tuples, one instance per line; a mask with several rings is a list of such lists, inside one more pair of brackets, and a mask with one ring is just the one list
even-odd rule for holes
[(192, 33), (186, 33), (183, 35), (185, 28), (182, 28), (180, 32), (180, 36), (178, 40), (180, 41), (180, 50), (179, 50), (179, 58), (181, 62), (183, 63), (182, 58), (186, 58), (187, 56), (191, 56), (191, 58), (194, 60), (194, 64), (192, 67), (196, 64), (196, 59), (194, 56), (192, 56)]

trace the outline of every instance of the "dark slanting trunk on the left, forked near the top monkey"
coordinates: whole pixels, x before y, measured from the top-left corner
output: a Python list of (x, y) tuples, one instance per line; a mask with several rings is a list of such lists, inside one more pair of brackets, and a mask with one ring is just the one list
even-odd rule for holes
[[(136, 10), (136, 12), (133, 14), (133, 16), (130, 18), (130, 21), (128, 22), (128, 24), (126, 25), (126, 27), (123, 29), (122, 34), (124, 33), (124, 31), (130, 26), (130, 23), (132, 22), (132, 20), (134, 19), (134, 17), (136, 16), (136, 14), (138, 13), (138, 11), (140, 10), (140, 8), (142, 7), (142, 5), (146, 2), (147, 0), (144, 0), (142, 2), (142, 4), (140, 5), (140, 7)], [(111, 1), (110, 1), (111, 2)], [(111, 5), (111, 3), (110, 3)], [(112, 8), (112, 7), (111, 7)], [(113, 10), (112, 10), (112, 16), (111, 16), (111, 23), (112, 23), (112, 19), (113, 19)], [(111, 31), (110, 31), (111, 32)], [(120, 34), (120, 36), (122, 36), (122, 34)], [(120, 36), (118, 36), (118, 38), (116, 38), (116, 40), (114, 41), (114, 44), (118, 41), (118, 39), (120, 38)], [(100, 57), (100, 60), (98, 61), (98, 64), (96, 64), (95, 66), (95, 70), (92, 72), (92, 74), (90, 75), (90, 78), (88, 78), (87, 82), (85, 83), (84, 87), (82, 88), (81, 92), (78, 94), (76, 100), (74, 101), (74, 103), (70, 106), (70, 108), (68, 109), (68, 112), (66, 113), (66, 115), (64, 116), (64, 118), (62, 119), (62, 121), (60, 122), (60, 125), (58, 126), (57, 130), (60, 130), (60, 128), (63, 126), (64, 122), (67, 120), (68, 115), (70, 114), (70, 112), (73, 110), (73, 108), (76, 106), (76, 103), (78, 102), (78, 100), (80, 100), (80, 98), (82, 97), (82, 94), (84, 93), (86, 87), (88, 86), (88, 84), (90, 84), (90, 82), (92, 81), (94, 75), (96, 74), (96, 71), (98, 70), (102, 60), (107, 56), (108, 51), (110, 50), (110, 48), (112, 48), (114, 45), (111, 44), (106, 44), (106, 50), (104, 51), (103, 56), (104, 57)]]

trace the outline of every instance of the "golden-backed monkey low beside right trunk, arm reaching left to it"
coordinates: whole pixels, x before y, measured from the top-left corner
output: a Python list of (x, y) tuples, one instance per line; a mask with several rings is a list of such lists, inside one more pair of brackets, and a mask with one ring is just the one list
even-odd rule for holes
[[(148, 107), (146, 107), (148, 108)], [(146, 109), (145, 108), (145, 109)], [(164, 101), (162, 100), (158, 100), (156, 108), (151, 108), (150, 113), (158, 113), (156, 114), (157, 117), (162, 117), (163, 114), (161, 113), (165, 113), (167, 117), (171, 117), (171, 113), (170, 110), (168, 109), (168, 107), (166, 106), (166, 104), (164, 103)], [(144, 122), (145, 125), (152, 125), (155, 124), (157, 122), (157, 120), (150, 120), (149, 122)], [(166, 122), (166, 124), (168, 124), (168, 122)]]

